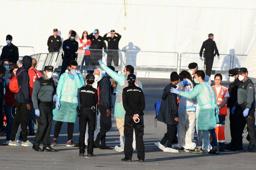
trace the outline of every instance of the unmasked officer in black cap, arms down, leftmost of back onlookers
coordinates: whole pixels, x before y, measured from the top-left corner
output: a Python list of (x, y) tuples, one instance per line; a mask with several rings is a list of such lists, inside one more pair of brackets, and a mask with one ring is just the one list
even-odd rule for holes
[(59, 49), (62, 46), (62, 39), (57, 34), (58, 34), (58, 29), (54, 28), (53, 35), (49, 36), (47, 41), (49, 52), (59, 52)]

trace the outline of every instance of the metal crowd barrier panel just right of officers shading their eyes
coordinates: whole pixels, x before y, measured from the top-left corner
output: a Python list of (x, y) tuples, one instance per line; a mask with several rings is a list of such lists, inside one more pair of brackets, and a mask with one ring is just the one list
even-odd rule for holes
[(129, 50), (125, 65), (132, 65), (136, 72), (173, 72), (178, 69), (178, 53)]

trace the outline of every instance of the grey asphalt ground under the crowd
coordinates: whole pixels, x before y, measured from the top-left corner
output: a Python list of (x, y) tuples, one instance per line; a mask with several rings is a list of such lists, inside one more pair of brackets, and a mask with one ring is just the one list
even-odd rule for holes
[[(132, 162), (122, 162), (123, 152), (115, 150), (94, 149), (95, 157), (80, 157), (78, 147), (66, 147), (67, 124), (63, 123), (58, 146), (53, 147), (58, 152), (36, 152), (32, 147), (22, 146), (0, 146), (0, 170), (125, 170), (125, 169), (256, 169), (256, 153), (245, 153), (249, 142), (244, 138), (244, 150), (231, 152), (226, 150), (219, 155), (208, 153), (196, 154), (188, 152), (168, 153), (161, 151), (154, 145), (166, 132), (166, 125), (157, 122), (157, 128), (154, 125), (155, 110), (154, 103), (160, 99), (162, 90), (170, 83), (169, 79), (148, 79), (140, 78), (143, 84), (145, 94), (146, 108), (144, 111), (144, 144), (145, 144), (145, 162), (138, 162), (137, 152), (133, 153)], [(228, 87), (228, 82), (222, 83)], [(115, 97), (113, 97), (113, 100)], [(113, 101), (114, 102), (114, 101)], [(229, 109), (228, 109), (229, 110)], [(229, 112), (228, 112), (229, 114)], [(53, 121), (51, 138), (53, 139), (54, 125)], [(230, 142), (229, 115), (225, 122), (226, 143)], [(78, 119), (74, 127), (73, 140), (78, 142), (79, 129)], [(34, 136), (28, 136), (33, 143)], [(195, 138), (197, 140), (197, 138)], [(119, 132), (116, 127), (116, 120), (112, 113), (112, 128), (107, 132), (107, 145), (114, 148), (119, 145)], [(5, 136), (0, 137), (0, 142), (5, 142)], [(41, 144), (42, 148), (42, 144)]]

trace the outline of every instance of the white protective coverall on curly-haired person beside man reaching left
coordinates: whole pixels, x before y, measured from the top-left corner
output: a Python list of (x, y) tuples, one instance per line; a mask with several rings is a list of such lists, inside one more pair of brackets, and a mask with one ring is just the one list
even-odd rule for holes
[[(184, 91), (182, 88), (184, 82), (188, 82), (191, 85), (191, 90), (193, 90), (193, 83), (189, 79), (183, 79), (178, 83), (176, 88), (179, 91)], [(196, 106), (197, 102), (195, 98), (189, 99), (186, 97), (178, 96), (180, 98), (180, 106), (178, 108), (179, 122), (178, 122), (178, 145), (185, 149), (194, 149), (196, 148), (196, 143), (192, 142), (194, 138), (194, 128), (196, 125), (196, 112), (186, 111), (186, 106)], [(196, 108), (197, 109), (197, 108)]]

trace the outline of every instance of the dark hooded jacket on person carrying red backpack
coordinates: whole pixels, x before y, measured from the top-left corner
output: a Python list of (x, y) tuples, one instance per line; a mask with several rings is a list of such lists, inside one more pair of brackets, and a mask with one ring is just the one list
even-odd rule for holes
[(18, 75), (18, 87), (20, 87), (20, 90), (14, 94), (15, 100), (17, 100), (20, 103), (26, 103), (29, 104), (31, 102), (30, 97), (30, 89), (29, 89), (29, 75), (28, 75), (28, 69), (32, 66), (32, 58), (30, 56), (24, 56), (23, 64), (21, 68), (18, 68), (16, 75), (21, 72)]

